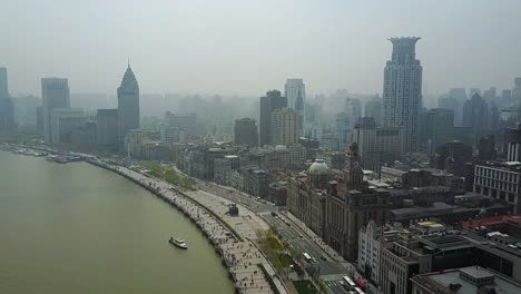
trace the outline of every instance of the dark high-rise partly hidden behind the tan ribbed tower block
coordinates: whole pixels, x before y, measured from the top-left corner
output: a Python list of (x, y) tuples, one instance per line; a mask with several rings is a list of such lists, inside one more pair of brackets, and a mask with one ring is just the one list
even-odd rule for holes
[(271, 90), (265, 97), (260, 97), (260, 146), (272, 144), (272, 112), (285, 107), (287, 107), (287, 98), (281, 96), (281, 91)]

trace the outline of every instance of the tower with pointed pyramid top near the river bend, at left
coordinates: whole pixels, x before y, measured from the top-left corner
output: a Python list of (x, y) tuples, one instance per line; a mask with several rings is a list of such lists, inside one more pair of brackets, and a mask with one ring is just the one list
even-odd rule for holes
[(118, 126), (119, 149), (124, 150), (125, 134), (139, 128), (139, 85), (130, 65), (118, 87)]

